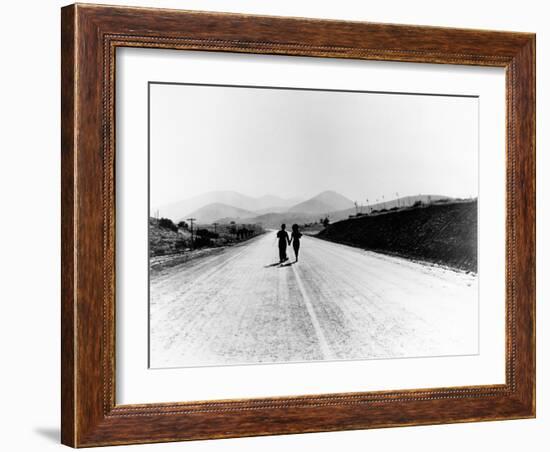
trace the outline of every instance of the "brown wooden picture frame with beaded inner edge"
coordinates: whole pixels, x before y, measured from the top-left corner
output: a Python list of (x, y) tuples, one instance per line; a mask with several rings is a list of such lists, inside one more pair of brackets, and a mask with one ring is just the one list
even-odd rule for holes
[[(62, 9), (62, 430), (73, 447), (535, 416), (535, 35), (71, 5)], [(506, 383), (115, 403), (115, 50), (506, 69)]]

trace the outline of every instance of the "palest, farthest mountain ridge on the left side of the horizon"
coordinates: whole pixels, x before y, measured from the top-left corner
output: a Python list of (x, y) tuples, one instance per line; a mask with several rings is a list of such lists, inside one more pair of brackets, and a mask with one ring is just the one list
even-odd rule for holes
[(261, 214), (270, 211), (284, 211), (300, 201), (301, 200), (297, 198), (285, 199), (275, 195), (264, 195), (254, 198), (235, 191), (212, 191), (193, 198), (160, 206), (155, 210), (158, 210), (160, 217), (170, 218), (176, 221), (183, 217), (189, 217), (197, 209), (209, 204), (226, 204), (237, 209), (249, 210), (256, 214)]

